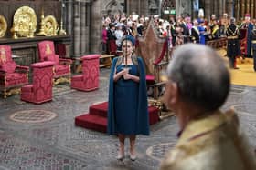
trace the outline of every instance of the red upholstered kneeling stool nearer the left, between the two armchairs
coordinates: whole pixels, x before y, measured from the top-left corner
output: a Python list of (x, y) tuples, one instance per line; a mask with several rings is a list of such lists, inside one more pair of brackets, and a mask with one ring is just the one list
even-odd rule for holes
[(21, 87), (21, 100), (35, 104), (52, 100), (53, 65), (50, 61), (31, 65), (33, 84)]

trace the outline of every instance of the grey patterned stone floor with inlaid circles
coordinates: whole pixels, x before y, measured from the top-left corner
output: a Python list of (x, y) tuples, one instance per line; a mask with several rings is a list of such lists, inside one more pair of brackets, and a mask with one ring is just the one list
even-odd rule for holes
[[(150, 136), (138, 136), (136, 161), (128, 156), (123, 161), (115, 159), (116, 137), (74, 125), (74, 117), (87, 113), (89, 105), (107, 100), (108, 75), (109, 69), (102, 68), (100, 89), (93, 92), (55, 86), (53, 100), (42, 105), (20, 101), (19, 95), (1, 98), (0, 170), (157, 169), (176, 143), (175, 116), (152, 125)], [(256, 148), (256, 88), (233, 85), (222, 109), (231, 106), (240, 115), (251, 149)]]

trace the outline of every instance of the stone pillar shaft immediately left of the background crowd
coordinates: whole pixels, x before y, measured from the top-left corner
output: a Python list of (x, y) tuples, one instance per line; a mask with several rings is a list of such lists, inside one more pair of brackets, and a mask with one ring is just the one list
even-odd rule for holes
[(101, 53), (101, 1), (96, 0), (91, 3), (91, 53)]

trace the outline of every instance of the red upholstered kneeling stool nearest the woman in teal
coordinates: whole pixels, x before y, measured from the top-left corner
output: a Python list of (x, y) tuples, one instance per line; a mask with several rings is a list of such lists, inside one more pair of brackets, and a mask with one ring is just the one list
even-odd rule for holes
[(91, 91), (99, 88), (100, 55), (85, 55), (82, 60), (82, 74), (71, 78), (71, 88)]

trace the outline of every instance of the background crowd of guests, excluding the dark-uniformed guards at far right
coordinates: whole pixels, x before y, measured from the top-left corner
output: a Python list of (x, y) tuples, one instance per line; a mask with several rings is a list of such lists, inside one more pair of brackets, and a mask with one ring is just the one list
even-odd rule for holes
[[(190, 16), (178, 15), (170, 17), (169, 21), (160, 18), (158, 15), (154, 18), (155, 27), (159, 35), (169, 37), (169, 45), (181, 45), (188, 42), (205, 44), (206, 40), (218, 39), (225, 36), (225, 29), (229, 23), (228, 17), (222, 18), (221, 22), (212, 15), (208, 22), (203, 17), (191, 21)], [(103, 53), (113, 53), (115, 50), (121, 50), (121, 40), (124, 35), (143, 36), (144, 30), (148, 25), (150, 17), (144, 15), (109, 15), (102, 19), (102, 43)], [(113, 46), (116, 47), (113, 47)]]

